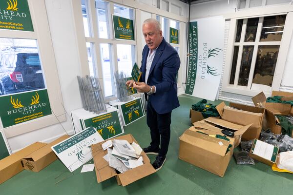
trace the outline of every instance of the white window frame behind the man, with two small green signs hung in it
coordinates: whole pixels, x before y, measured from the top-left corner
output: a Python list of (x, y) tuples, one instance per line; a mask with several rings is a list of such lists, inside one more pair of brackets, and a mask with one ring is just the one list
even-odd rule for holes
[[(94, 0), (90, 0), (92, 3), (94, 2)], [(109, 44), (113, 44), (112, 45), (112, 51), (113, 51), (113, 60), (114, 60), (114, 64), (113, 64), (113, 69), (114, 70), (118, 70), (118, 61), (117, 61), (117, 44), (131, 44), (131, 45), (135, 45), (135, 58), (136, 61), (140, 67), (141, 61), (142, 61), (142, 50), (143, 47), (140, 47), (140, 45), (145, 45), (143, 44), (145, 41), (139, 39), (138, 37), (140, 37), (141, 35), (141, 29), (142, 29), (142, 22), (141, 22), (141, 10), (143, 10), (144, 12), (148, 12), (152, 15), (151, 18), (156, 19), (157, 15), (160, 15), (162, 17), (171, 19), (171, 20), (176, 20), (179, 21), (179, 29), (184, 29), (186, 28), (188, 19), (183, 17), (183, 16), (178, 16), (176, 14), (152, 7), (152, 6), (148, 6), (144, 3), (138, 2), (138, 1), (133, 1), (133, 0), (123, 0), (123, 2), (121, 0), (105, 0), (106, 2), (108, 2), (108, 6), (110, 6), (110, 14), (114, 14), (114, 4), (123, 6), (123, 7), (128, 7), (134, 10), (134, 30), (135, 30), (135, 40), (117, 40), (117, 39), (113, 39), (113, 29), (110, 30), (110, 34), (112, 35), (112, 37), (110, 37), (111, 39), (100, 39), (100, 38), (85, 38), (84, 36), (84, 24), (83, 24), (83, 18), (82, 16), (82, 9), (81, 9), (81, 1), (80, 0), (71, 0), (72, 2), (72, 7), (73, 7), (73, 15), (74, 15), (74, 21), (75, 21), (75, 28), (76, 28), (76, 36), (77, 36), (77, 42), (79, 45), (79, 54), (80, 54), (80, 62), (81, 62), (81, 68), (82, 68), (82, 75), (89, 75), (89, 67), (88, 67), (88, 60), (87, 60), (87, 51), (86, 51), (86, 47), (84, 47), (85, 42), (91, 42), (91, 41), (96, 41), (97, 43), (109, 43)], [(90, 6), (92, 13), (95, 13), (95, 6)], [(112, 17), (112, 15), (110, 16)], [(95, 19), (96, 20), (96, 19)], [(110, 20), (112, 22), (112, 18), (110, 18)], [(93, 22), (92, 22), (93, 23)], [(91, 24), (92, 24), (91, 23)], [(97, 23), (95, 23), (97, 24)], [(111, 24), (109, 24), (111, 25)], [(184, 65), (185, 65), (185, 60), (186, 60), (186, 56), (185, 53), (187, 52), (185, 50), (184, 53), (184, 37), (183, 34), (181, 34), (181, 36), (179, 37), (179, 45), (181, 45), (181, 49), (179, 49), (179, 56), (181, 61), (181, 66), (180, 69), (178, 71), (178, 83), (177, 86), (178, 88), (183, 88), (182, 85), (182, 69), (184, 69)], [(176, 45), (177, 46), (177, 45)], [(99, 48), (97, 49), (97, 47), (95, 48), (96, 51), (95, 53), (97, 54), (97, 59), (101, 59), (100, 57), (100, 52), (97, 51), (99, 50)], [(103, 74), (102, 74), (102, 67), (97, 69), (98, 73), (97, 76), (101, 81), (101, 85), (102, 87), (104, 87), (104, 83), (102, 83), (103, 81)], [(103, 88), (104, 90), (104, 88)], [(112, 97), (108, 97), (105, 98), (105, 101), (111, 101), (116, 99), (115, 96)]]

